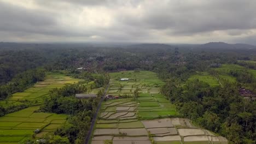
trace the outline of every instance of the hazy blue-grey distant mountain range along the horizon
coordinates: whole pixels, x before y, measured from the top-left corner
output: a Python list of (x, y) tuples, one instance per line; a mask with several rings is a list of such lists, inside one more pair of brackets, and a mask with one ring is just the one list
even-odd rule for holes
[(141, 48), (141, 49), (173, 49), (174, 47), (182, 47), (188, 49), (199, 49), (199, 50), (215, 50), (215, 49), (225, 49), (225, 50), (256, 50), (256, 46), (249, 44), (227, 44), (223, 42), (211, 42), (206, 44), (122, 44), (122, 43), (106, 43), (106, 44), (88, 44), (88, 43), (67, 43), (67, 44), (30, 44), (30, 43), (4, 43), (0, 42), (0, 48), (21, 48), (21, 47), (124, 47), (124, 48)]

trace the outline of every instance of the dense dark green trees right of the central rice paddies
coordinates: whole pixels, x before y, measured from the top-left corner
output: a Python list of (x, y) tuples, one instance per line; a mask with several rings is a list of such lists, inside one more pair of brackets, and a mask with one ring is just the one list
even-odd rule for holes
[(225, 136), (230, 143), (255, 143), (256, 103), (243, 99), (236, 85), (213, 88), (198, 80), (182, 85), (170, 79), (161, 92), (177, 105), (181, 116)]

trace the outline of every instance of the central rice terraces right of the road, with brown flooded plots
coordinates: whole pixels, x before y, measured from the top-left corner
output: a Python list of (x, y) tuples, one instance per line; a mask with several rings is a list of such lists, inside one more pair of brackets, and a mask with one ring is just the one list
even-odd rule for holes
[[(125, 71), (123, 75), (124, 73), (131, 73), (129, 75), (136, 76), (136, 80), (142, 80), (139, 78), (142, 74), (132, 71)], [(162, 83), (155, 73), (149, 71), (143, 71), (143, 73), (150, 76), (142, 76), (142, 81), (153, 79), (156, 83)], [(118, 81), (119, 78), (128, 77), (120, 75), (122, 74), (110, 74), (112, 76), (110, 89), (117, 87), (119, 83), (124, 83)], [(131, 81), (126, 81), (126, 83), (138, 82), (133, 81), (131, 76), (129, 79)], [(189, 119), (177, 118), (176, 107), (159, 93), (159, 88), (155, 87), (154, 82), (148, 83), (147, 90), (141, 91), (136, 100), (126, 98), (104, 101), (91, 143), (103, 144), (107, 141), (114, 144), (228, 143), (224, 137), (215, 136), (208, 130), (196, 128)], [(113, 83), (115, 84), (113, 85)], [(144, 87), (140, 83), (137, 86)], [(154, 92), (149, 91), (150, 87), (155, 87), (157, 91), (156, 89)], [(120, 94), (120, 92), (116, 94)]]

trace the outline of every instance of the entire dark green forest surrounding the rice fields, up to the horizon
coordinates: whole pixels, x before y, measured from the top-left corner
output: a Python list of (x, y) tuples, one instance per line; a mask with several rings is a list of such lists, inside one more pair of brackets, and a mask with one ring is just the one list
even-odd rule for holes
[[(256, 93), (255, 77), (248, 69), (255, 63), (237, 61), (255, 60), (255, 50), (193, 49), (185, 46), (143, 45), (142, 47), (93, 47), (89, 45), (18, 45), (0, 47), (0, 98), (24, 91), (43, 80), (44, 70), (58, 71), (85, 81), (94, 81), (96, 87), (106, 86), (105, 72), (120, 70), (150, 70), (166, 84), (161, 93), (177, 105), (183, 117), (206, 129), (227, 137), (230, 143), (255, 143), (255, 101), (245, 100), (238, 89), (245, 87)], [(230, 70), (226, 74), (236, 78), (235, 83), (222, 80), (222, 86), (210, 87), (198, 80), (188, 81), (196, 73), (208, 72), (218, 77), (213, 67), (239, 64), (244, 70)], [(77, 68), (83, 67), (82, 70)], [(84, 92), (83, 83), (53, 89), (45, 99), (44, 112), (66, 113), (68, 123), (45, 137), (49, 143), (82, 143), (89, 129), (98, 99), (78, 100), (75, 93)], [(101, 92), (102, 94), (102, 92)], [(136, 93), (137, 94), (137, 93)], [(0, 106), (1, 116), (20, 107)]]

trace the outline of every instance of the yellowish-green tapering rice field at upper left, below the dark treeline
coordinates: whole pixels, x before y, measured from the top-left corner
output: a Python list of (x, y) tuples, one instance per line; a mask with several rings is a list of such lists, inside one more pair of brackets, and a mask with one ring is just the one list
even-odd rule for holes
[(78, 82), (79, 79), (73, 79), (62, 74), (48, 74), (44, 81), (37, 82), (33, 87), (24, 92), (14, 93), (6, 100), (0, 100), (2, 106), (8, 105), (39, 105), (43, 103), (44, 97), (48, 96), (49, 90), (63, 87), (66, 83)]

